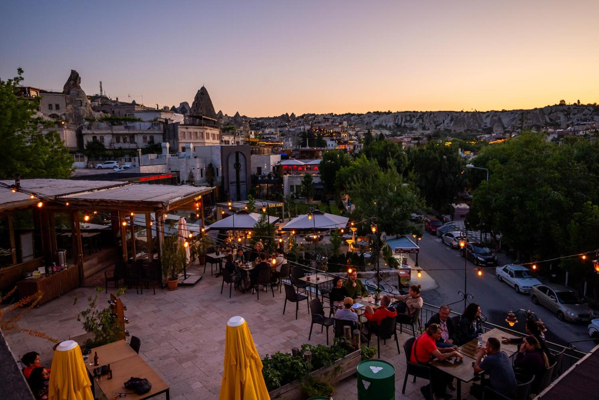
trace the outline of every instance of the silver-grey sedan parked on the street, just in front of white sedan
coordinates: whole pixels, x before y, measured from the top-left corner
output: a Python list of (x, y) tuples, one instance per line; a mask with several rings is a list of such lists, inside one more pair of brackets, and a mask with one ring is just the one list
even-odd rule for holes
[(530, 289), (534, 304), (543, 305), (558, 316), (560, 321), (589, 322), (595, 316), (591, 307), (583, 302), (578, 293), (556, 284), (540, 284)]

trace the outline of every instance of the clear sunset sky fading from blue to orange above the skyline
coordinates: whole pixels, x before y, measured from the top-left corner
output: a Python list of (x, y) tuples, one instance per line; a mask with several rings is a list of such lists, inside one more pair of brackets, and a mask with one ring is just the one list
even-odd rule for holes
[(0, 2), (0, 79), (284, 113), (599, 102), (599, 1)]

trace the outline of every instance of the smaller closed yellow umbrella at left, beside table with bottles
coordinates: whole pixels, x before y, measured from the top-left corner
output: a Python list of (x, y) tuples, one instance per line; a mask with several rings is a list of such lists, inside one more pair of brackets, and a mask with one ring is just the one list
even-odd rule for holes
[(52, 359), (49, 400), (93, 400), (91, 386), (77, 342), (66, 340), (60, 343)]

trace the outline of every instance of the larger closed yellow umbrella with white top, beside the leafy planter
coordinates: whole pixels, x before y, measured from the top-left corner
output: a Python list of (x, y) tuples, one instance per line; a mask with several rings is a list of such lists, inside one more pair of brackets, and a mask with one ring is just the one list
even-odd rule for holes
[(262, 360), (242, 317), (232, 317), (226, 324), (225, 371), (219, 400), (270, 400)]

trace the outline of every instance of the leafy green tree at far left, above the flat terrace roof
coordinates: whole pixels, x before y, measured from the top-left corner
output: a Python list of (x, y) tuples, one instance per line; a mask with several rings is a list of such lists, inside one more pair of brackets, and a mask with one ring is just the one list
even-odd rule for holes
[(23, 69), (17, 76), (0, 80), (0, 178), (69, 178), (73, 159), (58, 132), (42, 134), (48, 122), (35, 117), (40, 99), (20, 99), (19, 84)]

